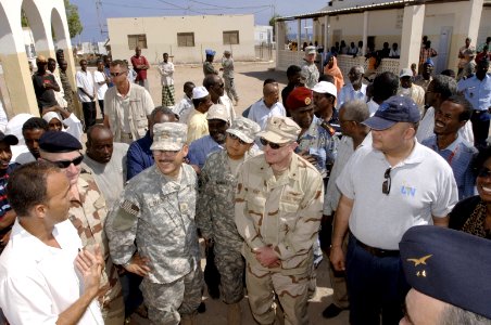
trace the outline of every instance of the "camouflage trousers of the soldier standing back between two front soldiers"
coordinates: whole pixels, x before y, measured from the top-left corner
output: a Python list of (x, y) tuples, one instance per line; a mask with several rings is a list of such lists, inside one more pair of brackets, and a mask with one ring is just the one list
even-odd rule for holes
[(225, 303), (237, 303), (243, 298), (244, 259), (240, 250), (219, 249), (215, 244), (215, 265), (221, 275), (219, 292)]

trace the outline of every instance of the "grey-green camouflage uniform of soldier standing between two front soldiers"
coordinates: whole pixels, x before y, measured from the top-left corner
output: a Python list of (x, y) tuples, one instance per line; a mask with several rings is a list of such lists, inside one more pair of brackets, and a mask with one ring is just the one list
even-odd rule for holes
[[(247, 153), (244, 160), (255, 155)], [(215, 264), (221, 275), (221, 295), (225, 303), (237, 303), (243, 298), (244, 262), (241, 255), (242, 237), (237, 232), (235, 216), (236, 176), (230, 171), (225, 150), (206, 159), (200, 174), (197, 225), (206, 239), (213, 239)]]

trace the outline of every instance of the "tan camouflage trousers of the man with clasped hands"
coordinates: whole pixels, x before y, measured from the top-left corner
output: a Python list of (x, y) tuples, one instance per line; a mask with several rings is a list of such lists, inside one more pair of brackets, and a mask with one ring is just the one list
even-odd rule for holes
[(285, 325), (307, 325), (309, 284), (311, 269), (302, 274), (284, 275), (252, 266), (246, 269), (249, 304), (252, 315), (260, 324), (275, 322), (275, 294), (285, 313)]

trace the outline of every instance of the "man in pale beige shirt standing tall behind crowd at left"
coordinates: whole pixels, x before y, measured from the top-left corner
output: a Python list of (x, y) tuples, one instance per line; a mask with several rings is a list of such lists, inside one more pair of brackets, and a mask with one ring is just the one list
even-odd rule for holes
[(110, 74), (115, 87), (104, 95), (104, 126), (111, 129), (115, 142), (130, 144), (147, 133), (153, 101), (147, 89), (128, 81), (126, 62), (113, 61)]

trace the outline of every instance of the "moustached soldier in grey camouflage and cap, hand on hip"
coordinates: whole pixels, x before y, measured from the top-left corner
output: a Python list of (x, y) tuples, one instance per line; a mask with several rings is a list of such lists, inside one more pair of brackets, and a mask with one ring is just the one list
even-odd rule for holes
[(201, 303), (198, 182), (192, 167), (182, 164), (186, 129), (177, 122), (153, 126), (155, 165), (128, 182), (105, 223), (114, 262), (143, 276), (151, 324), (196, 324)]

